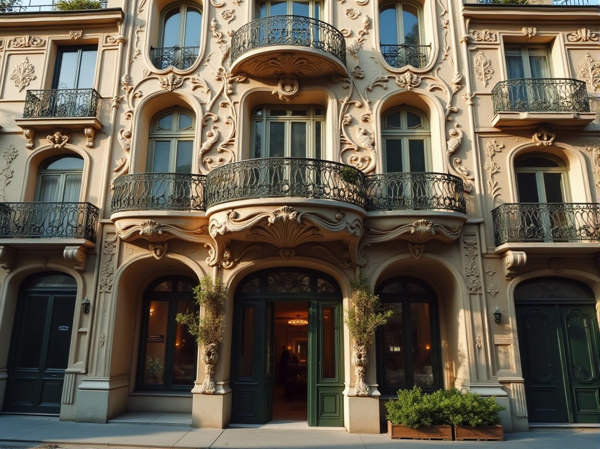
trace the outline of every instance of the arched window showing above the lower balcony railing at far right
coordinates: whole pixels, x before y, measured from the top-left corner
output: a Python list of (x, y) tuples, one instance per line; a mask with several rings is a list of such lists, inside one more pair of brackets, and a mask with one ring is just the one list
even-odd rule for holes
[(515, 159), (520, 203), (568, 202), (567, 167), (559, 158), (532, 152)]

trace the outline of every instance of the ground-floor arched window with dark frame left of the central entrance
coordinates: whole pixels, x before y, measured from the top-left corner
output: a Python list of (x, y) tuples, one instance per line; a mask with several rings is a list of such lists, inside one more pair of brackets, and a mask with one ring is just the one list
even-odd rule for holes
[(190, 391), (196, 380), (197, 345), (178, 313), (195, 307), (194, 282), (187, 277), (158, 279), (144, 295), (137, 388)]

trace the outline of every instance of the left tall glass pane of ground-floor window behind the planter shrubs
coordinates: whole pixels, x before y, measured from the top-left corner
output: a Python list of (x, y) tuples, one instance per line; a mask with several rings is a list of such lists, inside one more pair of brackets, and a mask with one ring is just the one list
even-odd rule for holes
[(384, 304), (383, 309), (392, 310), (394, 315), (383, 325), (383, 358), (385, 364), (385, 385), (404, 387), (404, 329), (402, 304)]

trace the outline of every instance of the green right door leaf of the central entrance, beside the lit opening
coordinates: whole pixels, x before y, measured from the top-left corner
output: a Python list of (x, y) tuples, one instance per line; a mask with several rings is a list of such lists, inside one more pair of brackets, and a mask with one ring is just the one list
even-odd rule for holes
[(311, 301), (308, 331), (308, 425), (344, 425), (339, 301)]

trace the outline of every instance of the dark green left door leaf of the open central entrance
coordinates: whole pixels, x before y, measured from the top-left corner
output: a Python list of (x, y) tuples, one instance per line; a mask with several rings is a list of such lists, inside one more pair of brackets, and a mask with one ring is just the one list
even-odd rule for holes
[(236, 304), (232, 343), (232, 421), (264, 424), (273, 418), (274, 305)]

